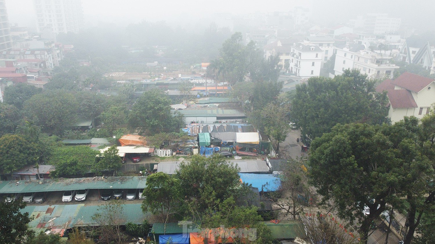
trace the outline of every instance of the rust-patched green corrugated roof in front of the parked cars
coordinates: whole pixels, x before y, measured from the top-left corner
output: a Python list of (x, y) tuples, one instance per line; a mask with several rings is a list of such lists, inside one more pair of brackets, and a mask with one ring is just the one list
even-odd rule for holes
[[(31, 217), (30, 228), (40, 231), (45, 229), (69, 229), (76, 226), (93, 226), (95, 221), (92, 216), (98, 212), (97, 205), (85, 206), (84, 204), (74, 205), (29, 205), (20, 210), (28, 212)], [(123, 224), (132, 222), (141, 224), (145, 217), (150, 214), (141, 214), (141, 203), (124, 204)]]

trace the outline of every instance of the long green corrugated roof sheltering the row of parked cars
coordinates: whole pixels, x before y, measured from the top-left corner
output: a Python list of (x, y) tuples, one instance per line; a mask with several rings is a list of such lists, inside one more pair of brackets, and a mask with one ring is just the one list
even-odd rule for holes
[[(18, 183), (17, 183), (18, 182)], [(40, 184), (40, 182), (42, 182)], [(147, 185), (145, 176), (91, 177), (2, 181), (0, 193), (57, 192), (77, 189), (141, 189)]]

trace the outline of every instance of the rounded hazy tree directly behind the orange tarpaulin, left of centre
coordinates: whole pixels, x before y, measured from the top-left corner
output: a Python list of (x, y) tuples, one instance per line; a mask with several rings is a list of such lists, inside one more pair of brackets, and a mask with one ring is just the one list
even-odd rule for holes
[(163, 91), (145, 91), (131, 108), (128, 124), (147, 134), (175, 131), (181, 126), (181, 117), (173, 116), (170, 105), (171, 100)]

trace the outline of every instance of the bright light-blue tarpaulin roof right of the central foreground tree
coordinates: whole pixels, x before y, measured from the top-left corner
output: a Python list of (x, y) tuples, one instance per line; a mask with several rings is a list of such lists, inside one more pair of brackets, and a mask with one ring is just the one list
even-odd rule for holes
[(264, 192), (274, 192), (281, 186), (281, 179), (273, 174), (239, 173), (239, 176), (243, 183), (252, 184), (259, 192), (262, 187)]

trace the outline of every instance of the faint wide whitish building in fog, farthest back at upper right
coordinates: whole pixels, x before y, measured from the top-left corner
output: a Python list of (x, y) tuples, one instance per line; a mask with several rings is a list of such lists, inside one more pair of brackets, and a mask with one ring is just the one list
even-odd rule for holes
[(385, 34), (397, 32), (402, 19), (390, 18), (386, 13), (369, 13), (358, 15), (356, 19), (349, 20), (349, 26), (368, 34)]

